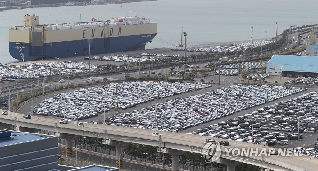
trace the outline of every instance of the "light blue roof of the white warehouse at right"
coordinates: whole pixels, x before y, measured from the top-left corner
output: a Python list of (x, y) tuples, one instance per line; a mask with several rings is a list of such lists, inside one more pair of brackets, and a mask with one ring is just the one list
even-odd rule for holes
[(274, 55), (267, 64), (315, 66), (318, 64), (318, 56)]

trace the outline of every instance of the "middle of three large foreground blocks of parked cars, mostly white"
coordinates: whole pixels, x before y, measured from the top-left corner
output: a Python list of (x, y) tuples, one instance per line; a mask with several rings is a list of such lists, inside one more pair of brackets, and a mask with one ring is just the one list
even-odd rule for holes
[(132, 112), (116, 113), (112, 117), (105, 118), (105, 122), (108, 125), (122, 127), (177, 132), (305, 90), (294, 87), (261, 88), (243, 85), (233, 85), (221, 89), (242, 94), (248, 92), (250, 98), (239, 98), (235, 95), (232, 97), (228, 95), (191, 95), (188, 98), (167, 100), (165, 103), (158, 103)]

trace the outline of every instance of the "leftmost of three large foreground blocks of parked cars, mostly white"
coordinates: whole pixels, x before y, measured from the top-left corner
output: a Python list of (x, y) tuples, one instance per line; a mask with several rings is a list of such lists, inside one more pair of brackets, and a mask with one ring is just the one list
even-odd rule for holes
[[(175, 94), (189, 92), (192, 83), (171, 82), (121, 82), (118, 84), (107, 84), (102, 87), (84, 87), (71, 92), (53, 95), (50, 99), (42, 100), (33, 108), (33, 115), (61, 116), (80, 120), (91, 116), (92, 113), (109, 111), (116, 107), (115, 95), (117, 92), (118, 107), (127, 109), (137, 104), (145, 103), (158, 98), (166, 98)], [(206, 87), (210, 87), (206, 84)], [(83, 116), (78, 116), (79, 114)]]

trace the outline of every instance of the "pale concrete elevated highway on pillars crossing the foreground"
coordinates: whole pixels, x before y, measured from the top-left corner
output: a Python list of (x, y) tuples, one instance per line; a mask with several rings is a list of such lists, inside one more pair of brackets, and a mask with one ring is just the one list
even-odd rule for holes
[[(199, 135), (185, 134), (185, 133), (171, 133), (158, 131), (162, 136), (151, 136), (152, 130), (127, 128), (118, 126), (108, 126), (100, 124), (85, 123), (84, 127), (78, 127), (69, 124), (59, 124), (58, 120), (50, 118), (41, 118), (32, 116), (31, 120), (23, 119), (23, 115), (19, 113), (9, 112), (9, 115), (0, 115), (0, 122), (21, 127), (40, 129), (52, 131), (60, 135), (61, 138), (66, 138), (72, 142), (72, 138), (67, 139), (69, 135), (89, 136), (96, 138), (103, 138), (108, 144), (115, 145), (122, 143), (138, 143), (159, 147), (162, 152), (172, 154), (172, 170), (178, 170), (179, 155), (182, 152), (202, 153), (205, 145), (205, 137)], [(70, 137), (70, 136), (69, 136)], [(214, 140), (221, 141), (221, 139), (214, 138)], [(318, 170), (318, 159), (306, 156), (258, 156), (258, 155), (236, 155), (235, 153), (227, 154), (229, 148), (236, 149), (259, 149), (263, 148), (268, 151), (270, 147), (259, 146), (244, 142), (237, 142), (229, 140), (229, 146), (221, 146), (221, 158), (218, 160), (226, 164), (234, 161), (248, 163), (275, 171), (314, 171)], [(72, 143), (67, 143), (72, 144)], [(116, 152), (117, 152), (116, 146)], [(67, 147), (72, 149), (71, 147)], [(120, 151), (118, 151), (120, 152)], [(72, 151), (70, 151), (72, 154)], [(119, 154), (118, 154), (119, 155)], [(120, 156), (116, 154), (119, 159)], [(230, 169), (232, 170), (232, 169)]]

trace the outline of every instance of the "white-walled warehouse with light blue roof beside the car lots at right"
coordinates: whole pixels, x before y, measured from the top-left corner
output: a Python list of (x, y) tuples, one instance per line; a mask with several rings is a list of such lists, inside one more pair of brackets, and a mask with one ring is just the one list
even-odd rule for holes
[(274, 55), (267, 62), (266, 73), (287, 77), (316, 77), (318, 56)]

